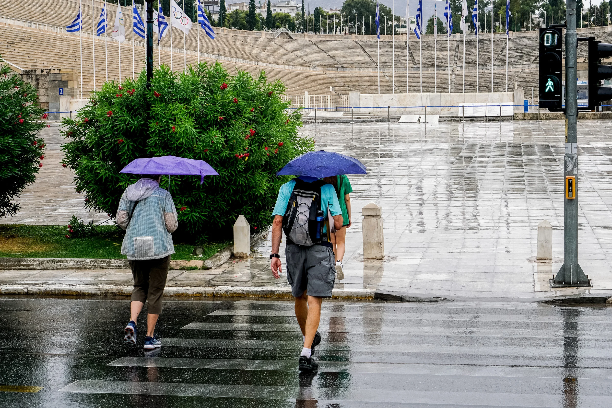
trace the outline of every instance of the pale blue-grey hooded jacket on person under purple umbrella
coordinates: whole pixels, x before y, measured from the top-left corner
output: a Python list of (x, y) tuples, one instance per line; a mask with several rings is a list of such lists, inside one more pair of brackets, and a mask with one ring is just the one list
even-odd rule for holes
[(176, 207), (157, 181), (140, 179), (119, 201), (117, 224), (125, 229), (121, 253), (130, 261), (159, 259), (174, 253), (171, 233), (179, 226)]

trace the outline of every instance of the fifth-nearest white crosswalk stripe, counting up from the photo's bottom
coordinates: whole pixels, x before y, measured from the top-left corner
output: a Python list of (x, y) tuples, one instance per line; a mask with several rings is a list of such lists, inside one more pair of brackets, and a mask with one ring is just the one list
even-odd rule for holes
[[(390, 313), (376, 311), (322, 311), (321, 317), (340, 317), (343, 319), (416, 319), (416, 320), (450, 320), (450, 321), (495, 321), (495, 322), (551, 322), (567, 323), (577, 322), (584, 324), (606, 324), (612, 325), (609, 320), (601, 317), (580, 316), (563, 319), (562, 316), (515, 316), (510, 314), (442, 314), (442, 313)], [(242, 309), (219, 309), (209, 313), (209, 316), (280, 316), (295, 317), (293, 310), (242, 310)]]

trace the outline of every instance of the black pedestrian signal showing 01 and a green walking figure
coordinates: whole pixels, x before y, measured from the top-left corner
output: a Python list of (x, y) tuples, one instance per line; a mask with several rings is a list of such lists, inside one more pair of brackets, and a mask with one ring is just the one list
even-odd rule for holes
[(540, 28), (540, 108), (560, 111), (563, 72), (563, 29)]

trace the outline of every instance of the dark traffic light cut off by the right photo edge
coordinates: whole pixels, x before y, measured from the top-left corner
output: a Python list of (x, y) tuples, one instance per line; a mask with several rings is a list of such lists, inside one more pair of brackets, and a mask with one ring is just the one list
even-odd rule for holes
[(589, 37), (589, 110), (601, 102), (612, 99), (612, 87), (600, 86), (600, 81), (612, 78), (612, 65), (600, 64), (601, 59), (612, 56), (612, 44)]

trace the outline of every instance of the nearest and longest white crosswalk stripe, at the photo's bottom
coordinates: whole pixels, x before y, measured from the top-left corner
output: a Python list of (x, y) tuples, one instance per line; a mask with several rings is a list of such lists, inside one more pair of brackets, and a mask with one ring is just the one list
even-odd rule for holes
[[(381, 390), (365, 388), (318, 388), (270, 385), (173, 384), (167, 382), (127, 382), (76, 380), (60, 391), (72, 393), (113, 393), (135, 395), (202, 396), (209, 398), (256, 398), (283, 400), (398, 402), (404, 404), (457, 404), (463, 406), (559, 407), (563, 395), (452, 392), (421, 390)], [(607, 407), (607, 396), (580, 395), (581, 405)]]

